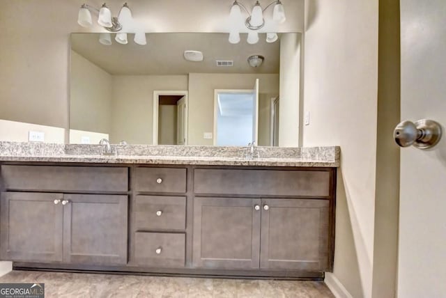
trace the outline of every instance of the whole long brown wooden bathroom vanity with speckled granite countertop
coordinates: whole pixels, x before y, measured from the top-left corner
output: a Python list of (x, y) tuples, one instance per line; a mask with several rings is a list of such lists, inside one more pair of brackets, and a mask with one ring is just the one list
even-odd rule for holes
[(0, 256), (16, 269), (286, 279), (332, 270), (337, 147), (247, 160), (206, 147), (105, 157), (13, 146), (0, 152)]

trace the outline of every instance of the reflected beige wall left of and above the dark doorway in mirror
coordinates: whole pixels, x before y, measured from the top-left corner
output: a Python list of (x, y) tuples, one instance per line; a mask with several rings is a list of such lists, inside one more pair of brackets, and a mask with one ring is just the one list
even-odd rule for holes
[(153, 91), (186, 91), (187, 75), (114, 76), (112, 143), (153, 143)]

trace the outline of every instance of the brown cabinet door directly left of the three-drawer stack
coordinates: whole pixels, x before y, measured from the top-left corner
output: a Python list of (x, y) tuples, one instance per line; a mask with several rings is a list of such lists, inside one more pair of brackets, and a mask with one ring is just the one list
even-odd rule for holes
[(63, 261), (127, 263), (128, 196), (65, 194)]

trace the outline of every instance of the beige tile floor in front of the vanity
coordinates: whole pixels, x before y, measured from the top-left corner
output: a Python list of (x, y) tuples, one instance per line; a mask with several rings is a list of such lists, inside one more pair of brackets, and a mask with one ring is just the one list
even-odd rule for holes
[(0, 283), (45, 283), (45, 297), (334, 297), (321, 281), (256, 281), (13, 271)]

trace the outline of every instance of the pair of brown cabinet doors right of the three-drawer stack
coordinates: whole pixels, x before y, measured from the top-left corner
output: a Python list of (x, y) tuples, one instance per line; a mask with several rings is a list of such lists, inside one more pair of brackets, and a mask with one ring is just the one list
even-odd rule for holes
[(195, 198), (194, 266), (328, 269), (328, 201)]

